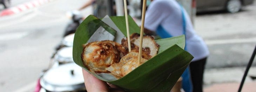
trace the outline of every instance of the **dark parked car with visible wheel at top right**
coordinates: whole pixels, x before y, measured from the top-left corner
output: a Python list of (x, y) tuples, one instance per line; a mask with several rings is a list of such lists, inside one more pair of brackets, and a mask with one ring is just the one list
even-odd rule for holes
[(235, 13), (241, 10), (243, 6), (251, 5), (254, 0), (197, 0), (196, 11), (227, 10)]

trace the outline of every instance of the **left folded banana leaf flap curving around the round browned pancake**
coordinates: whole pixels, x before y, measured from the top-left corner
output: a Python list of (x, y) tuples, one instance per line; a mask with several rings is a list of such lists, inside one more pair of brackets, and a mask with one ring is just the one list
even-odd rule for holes
[(115, 35), (116, 31), (113, 28), (92, 15), (88, 16), (76, 29), (75, 43), (73, 43), (73, 59), (76, 64), (83, 66), (83, 62), (81, 61), (82, 44), (85, 44), (100, 26), (110, 34)]

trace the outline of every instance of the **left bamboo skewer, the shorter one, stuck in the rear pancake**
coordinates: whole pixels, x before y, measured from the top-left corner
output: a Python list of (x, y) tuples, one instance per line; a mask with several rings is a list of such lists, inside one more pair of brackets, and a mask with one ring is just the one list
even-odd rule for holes
[(131, 51), (131, 42), (130, 42), (130, 31), (129, 31), (129, 22), (128, 22), (128, 13), (127, 13), (127, 1), (123, 0), (124, 4), (124, 15), (125, 15), (125, 22), (126, 22), (126, 32), (127, 32), (127, 40), (128, 40), (128, 50)]

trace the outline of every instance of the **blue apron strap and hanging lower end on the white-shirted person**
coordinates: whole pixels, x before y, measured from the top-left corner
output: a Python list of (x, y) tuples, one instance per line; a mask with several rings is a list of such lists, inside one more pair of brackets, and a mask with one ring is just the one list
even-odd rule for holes
[[(181, 13), (182, 13), (183, 34), (186, 37), (186, 17), (185, 17), (185, 14), (184, 14), (184, 9), (183, 9), (181, 4), (180, 4), (180, 8), (181, 8)], [(187, 42), (185, 41), (185, 48), (184, 48), (184, 50), (187, 50), (186, 43)], [(193, 91), (193, 84), (192, 84), (192, 81), (191, 81), (189, 66), (186, 68), (186, 70), (183, 72), (183, 74), (181, 76), (183, 78), (183, 80), (182, 80), (182, 89), (185, 92), (192, 92)]]

